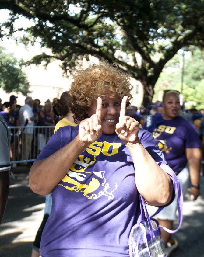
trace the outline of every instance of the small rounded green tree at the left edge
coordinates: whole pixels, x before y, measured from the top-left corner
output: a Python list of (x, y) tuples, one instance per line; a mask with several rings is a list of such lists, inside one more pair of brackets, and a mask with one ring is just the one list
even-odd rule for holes
[(5, 92), (21, 92), (26, 95), (29, 92), (29, 83), (22, 71), (23, 61), (17, 61), (13, 54), (6, 54), (0, 47), (0, 87)]

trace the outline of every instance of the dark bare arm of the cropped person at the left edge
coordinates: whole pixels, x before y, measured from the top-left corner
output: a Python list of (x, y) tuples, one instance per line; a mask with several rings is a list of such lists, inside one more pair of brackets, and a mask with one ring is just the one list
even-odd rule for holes
[(7, 199), (9, 196), (9, 170), (0, 172), (0, 224), (5, 212)]

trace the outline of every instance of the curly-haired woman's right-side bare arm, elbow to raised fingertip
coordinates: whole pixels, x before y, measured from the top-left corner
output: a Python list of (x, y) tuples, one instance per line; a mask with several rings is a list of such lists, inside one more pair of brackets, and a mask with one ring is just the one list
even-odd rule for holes
[(127, 98), (123, 98), (116, 133), (130, 151), (135, 167), (135, 183), (146, 203), (160, 206), (171, 200), (173, 183), (142, 146), (139, 138), (139, 123), (125, 116)]

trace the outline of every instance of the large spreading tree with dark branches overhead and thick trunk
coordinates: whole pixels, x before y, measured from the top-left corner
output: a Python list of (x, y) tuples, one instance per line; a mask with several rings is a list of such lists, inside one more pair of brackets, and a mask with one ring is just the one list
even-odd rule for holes
[(33, 25), (18, 28), (26, 31), (22, 41), (51, 49), (51, 56), (43, 53), (30, 63), (57, 58), (67, 74), (83, 57), (107, 59), (142, 83), (144, 104), (181, 47), (204, 45), (203, 0), (0, 0), (0, 8), (10, 10), (2, 36), (11, 36), (15, 20), (24, 16)]

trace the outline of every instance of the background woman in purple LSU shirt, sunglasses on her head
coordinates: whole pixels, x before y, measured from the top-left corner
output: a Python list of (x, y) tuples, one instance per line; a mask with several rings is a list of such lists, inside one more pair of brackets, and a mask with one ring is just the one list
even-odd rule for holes
[[(143, 128), (149, 130), (164, 157), (178, 176), (183, 194), (188, 187), (189, 174), (191, 179), (190, 199), (196, 200), (199, 196), (199, 174), (201, 151), (199, 135), (194, 125), (179, 116), (179, 92), (164, 91), (162, 101), (163, 112), (148, 116)], [(176, 219), (177, 200), (157, 214), (159, 224), (173, 229)], [(178, 242), (171, 238), (171, 234), (161, 229), (167, 256), (178, 247)]]

